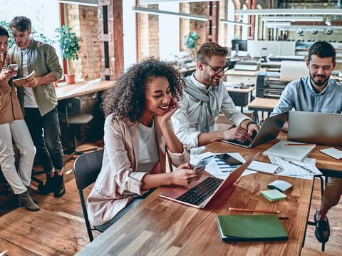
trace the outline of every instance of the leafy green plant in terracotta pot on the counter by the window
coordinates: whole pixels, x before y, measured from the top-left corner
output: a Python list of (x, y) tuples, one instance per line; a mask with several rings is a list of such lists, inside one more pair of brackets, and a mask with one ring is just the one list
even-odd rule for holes
[(70, 61), (78, 60), (78, 51), (80, 51), (78, 37), (72, 30), (70, 26), (66, 25), (56, 29), (62, 58), (69, 62), (68, 74), (64, 74), (68, 84), (75, 83), (75, 70), (71, 68)]

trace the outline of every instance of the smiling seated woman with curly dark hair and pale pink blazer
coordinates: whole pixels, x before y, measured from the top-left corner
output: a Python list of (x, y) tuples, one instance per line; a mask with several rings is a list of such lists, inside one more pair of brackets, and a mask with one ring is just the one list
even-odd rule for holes
[[(103, 96), (103, 165), (88, 196), (89, 220), (96, 229), (106, 230), (150, 189), (189, 184), (202, 175), (187, 163), (189, 150), (170, 122), (183, 86), (175, 68), (150, 58), (128, 68)], [(165, 172), (166, 154), (178, 166), (171, 173)]]

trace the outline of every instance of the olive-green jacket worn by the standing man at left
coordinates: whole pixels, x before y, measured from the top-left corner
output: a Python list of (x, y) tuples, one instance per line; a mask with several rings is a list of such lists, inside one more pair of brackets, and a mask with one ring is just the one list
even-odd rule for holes
[[(52, 72), (56, 77), (56, 80), (60, 79), (63, 71), (59, 65), (55, 48), (46, 43), (33, 39), (31, 40), (31, 45), (28, 46), (28, 73), (31, 73), (34, 70), (36, 72), (36, 77), (42, 77)], [(16, 76), (16, 78), (22, 78), (21, 49), (18, 46), (14, 46), (9, 53), (11, 55), (12, 63), (19, 65), (18, 76)], [(17, 87), (17, 91), (19, 102), (24, 113), (24, 88)], [(36, 103), (41, 116), (44, 116), (57, 106), (56, 91), (53, 83), (34, 87), (33, 94), (34, 98), (36, 98)]]

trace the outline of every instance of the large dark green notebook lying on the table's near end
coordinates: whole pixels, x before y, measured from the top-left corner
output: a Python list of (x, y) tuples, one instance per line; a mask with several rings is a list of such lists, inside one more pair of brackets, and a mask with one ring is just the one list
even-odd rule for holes
[(281, 241), (288, 235), (276, 215), (217, 215), (224, 242)]

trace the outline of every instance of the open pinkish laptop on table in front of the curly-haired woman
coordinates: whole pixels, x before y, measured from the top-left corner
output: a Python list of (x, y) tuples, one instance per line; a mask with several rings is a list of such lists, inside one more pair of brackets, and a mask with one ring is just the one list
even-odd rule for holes
[(242, 175), (252, 160), (258, 156), (259, 153), (253, 155), (252, 158), (237, 168), (237, 170), (234, 170), (224, 180), (202, 175), (199, 180), (192, 182), (190, 185), (172, 185), (165, 188), (160, 197), (202, 209), (212, 202), (214, 198), (228, 190)]

